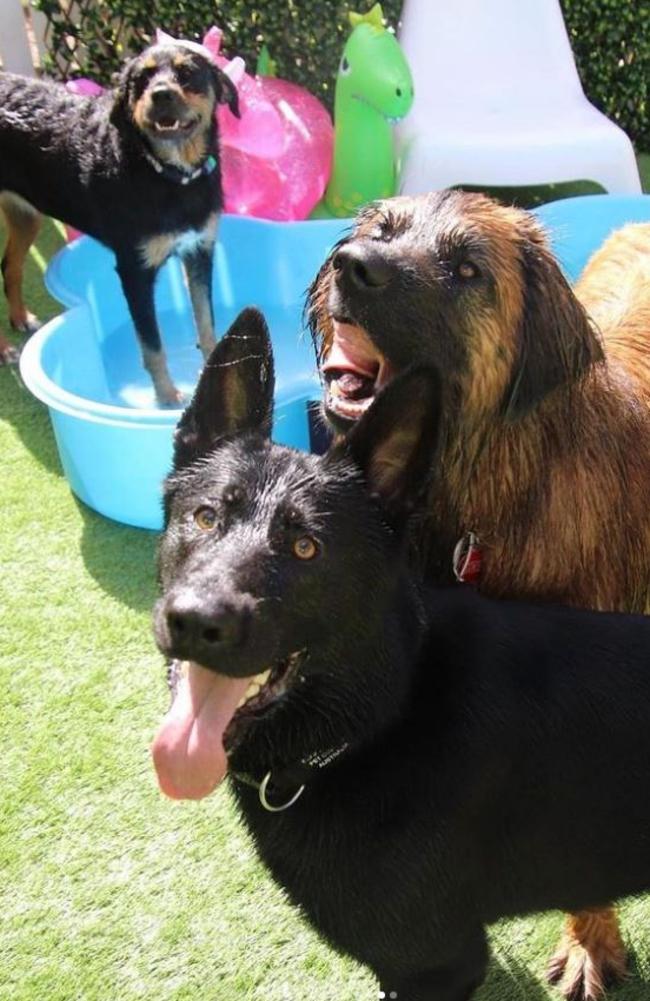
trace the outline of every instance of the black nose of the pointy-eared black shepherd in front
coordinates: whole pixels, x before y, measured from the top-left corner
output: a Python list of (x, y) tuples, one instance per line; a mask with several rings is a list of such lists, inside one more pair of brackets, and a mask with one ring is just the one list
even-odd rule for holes
[(202, 651), (238, 646), (244, 639), (250, 610), (225, 601), (208, 609), (193, 596), (181, 594), (169, 599), (165, 618), (173, 656), (199, 660)]

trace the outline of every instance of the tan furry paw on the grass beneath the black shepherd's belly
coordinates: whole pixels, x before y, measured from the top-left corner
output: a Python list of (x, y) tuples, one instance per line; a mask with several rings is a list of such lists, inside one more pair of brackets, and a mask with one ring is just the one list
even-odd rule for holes
[(625, 947), (613, 907), (581, 911), (567, 919), (548, 979), (569, 1001), (595, 1001), (625, 976)]

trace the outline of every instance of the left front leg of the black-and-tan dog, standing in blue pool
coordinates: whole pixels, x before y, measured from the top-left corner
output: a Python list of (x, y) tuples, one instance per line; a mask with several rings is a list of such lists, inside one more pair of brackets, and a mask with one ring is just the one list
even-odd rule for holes
[(140, 341), (142, 363), (151, 376), (156, 398), (162, 406), (175, 406), (181, 402), (182, 393), (171, 380), (162, 350), (153, 302), (155, 268), (142, 267), (134, 255), (122, 255), (117, 257), (117, 273)]

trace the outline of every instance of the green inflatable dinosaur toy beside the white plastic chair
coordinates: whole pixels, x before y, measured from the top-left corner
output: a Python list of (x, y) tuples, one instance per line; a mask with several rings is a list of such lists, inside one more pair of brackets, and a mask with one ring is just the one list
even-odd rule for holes
[(375, 198), (396, 192), (393, 128), (413, 104), (413, 78), (377, 3), (350, 14), (335, 91), (332, 175), (311, 218), (345, 217)]

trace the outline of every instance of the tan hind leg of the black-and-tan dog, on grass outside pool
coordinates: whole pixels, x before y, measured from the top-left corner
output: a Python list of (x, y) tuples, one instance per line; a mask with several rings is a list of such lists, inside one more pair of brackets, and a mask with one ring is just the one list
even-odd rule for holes
[[(29, 248), (38, 235), (41, 215), (29, 202), (10, 191), (3, 191), (0, 194), (0, 208), (7, 223), (8, 233), (2, 257), (2, 275), (9, 304), (9, 321), (15, 330), (30, 334), (38, 329), (40, 323), (23, 302), (23, 269)], [(8, 350), (11, 353), (16, 349), (2, 338), (0, 355), (6, 357)]]

